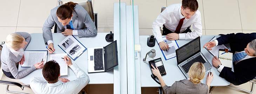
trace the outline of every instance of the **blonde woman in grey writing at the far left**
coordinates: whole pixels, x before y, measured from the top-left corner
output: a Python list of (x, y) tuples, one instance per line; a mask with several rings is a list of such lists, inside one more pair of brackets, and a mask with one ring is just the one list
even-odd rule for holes
[(7, 77), (19, 79), (36, 69), (43, 68), (43, 62), (38, 62), (26, 70), (18, 71), (18, 64), (16, 63), (24, 63), (24, 50), (30, 39), (30, 34), (26, 32), (16, 32), (7, 36), (1, 52), (1, 67)]

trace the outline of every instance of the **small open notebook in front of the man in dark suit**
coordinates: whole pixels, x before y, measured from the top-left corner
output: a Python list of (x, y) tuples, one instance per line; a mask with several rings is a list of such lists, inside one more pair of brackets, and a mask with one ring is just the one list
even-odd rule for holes
[[(229, 67), (229, 68), (232, 68), (232, 64), (233, 64), (233, 53), (232, 52), (227, 52), (227, 53), (224, 53), (224, 49), (220, 49), (219, 50), (219, 60), (221, 61), (221, 64), (226, 66), (226, 67)], [(224, 53), (224, 54), (222, 54)]]

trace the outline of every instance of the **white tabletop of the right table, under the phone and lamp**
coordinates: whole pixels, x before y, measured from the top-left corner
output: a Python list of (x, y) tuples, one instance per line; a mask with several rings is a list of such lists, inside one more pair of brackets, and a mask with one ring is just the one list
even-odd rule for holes
[[(156, 50), (156, 56), (154, 57), (154, 59), (159, 58), (159, 57), (162, 58), (163, 65), (164, 65), (164, 68), (167, 73), (167, 75), (164, 75), (162, 77), (167, 86), (171, 86), (175, 81), (186, 79), (186, 77), (183, 75), (183, 73), (180, 71), (180, 69), (177, 66), (176, 57), (171, 58), (166, 61), (163, 57), (163, 54), (162, 54), (157, 42), (154, 47), (147, 46), (147, 38), (148, 37), (149, 36), (140, 36), (141, 52), (140, 52), (140, 62), (138, 62), (138, 63), (140, 63), (141, 87), (159, 87), (160, 86), (150, 77), (151, 69), (149, 68), (149, 64), (146, 64), (143, 62), (143, 58), (145, 57), (146, 53), (149, 52), (149, 50), (151, 50), (151, 49)], [(209, 40), (211, 40), (211, 38), (213, 38), (213, 37), (214, 36), (202, 36), (200, 38), (201, 52), (207, 58), (207, 60), (210, 62), (211, 65), (212, 65), (211, 60), (212, 60), (213, 56), (205, 48), (203, 48), (203, 45), (206, 42), (208, 42)], [(216, 37), (219, 37), (219, 36), (216, 36)], [(181, 47), (184, 44), (188, 43), (189, 41), (191, 41), (191, 40), (177, 40), (177, 44), (179, 47)], [(208, 72), (209, 72), (209, 70), (206, 71), (206, 76), (207, 76)], [(218, 76), (218, 75), (220, 75), (220, 72), (218, 72), (214, 66), (213, 66), (213, 68), (211, 68), (211, 72), (214, 75), (214, 77), (213, 77), (214, 79), (210, 86), (227, 86), (230, 84), (227, 80)], [(206, 83), (206, 76), (201, 81), (204, 84)]]

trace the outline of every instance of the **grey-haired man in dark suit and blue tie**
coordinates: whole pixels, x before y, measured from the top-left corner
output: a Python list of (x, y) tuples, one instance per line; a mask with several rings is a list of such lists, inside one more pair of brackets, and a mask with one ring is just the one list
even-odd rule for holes
[(256, 33), (231, 33), (221, 35), (214, 41), (207, 42), (203, 47), (230, 44), (233, 52), (234, 72), (221, 64), (218, 57), (213, 57), (213, 66), (220, 72), (220, 77), (234, 85), (241, 85), (256, 77)]

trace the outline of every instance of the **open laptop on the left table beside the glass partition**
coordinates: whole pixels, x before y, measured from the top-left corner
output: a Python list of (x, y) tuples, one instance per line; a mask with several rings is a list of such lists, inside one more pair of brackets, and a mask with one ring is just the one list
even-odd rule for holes
[(88, 73), (109, 71), (117, 65), (116, 40), (106, 47), (88, 48)]

